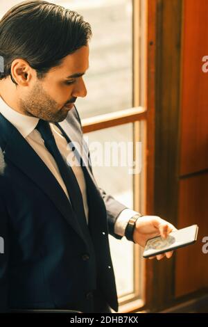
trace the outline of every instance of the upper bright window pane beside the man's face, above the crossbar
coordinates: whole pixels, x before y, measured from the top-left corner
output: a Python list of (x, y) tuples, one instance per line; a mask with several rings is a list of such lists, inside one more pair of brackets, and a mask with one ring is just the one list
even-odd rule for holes
[[(132, 1), (68, 1), (92, 26), (82, 118), (132, 107)], [(79, 6), (78, 3), (80, 3)]]

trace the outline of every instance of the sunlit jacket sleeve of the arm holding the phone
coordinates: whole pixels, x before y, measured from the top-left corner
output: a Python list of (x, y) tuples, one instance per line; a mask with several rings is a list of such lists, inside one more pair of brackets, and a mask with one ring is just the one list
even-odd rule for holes
[[(76, 109), (76, 106), (74, 106), (74, 107)], [(81, 123), (80, 116), (78, 114), (77, 109), (76, 109), (76, 115), (77, 115), (77, 119), (80, 123), (80, 129), (81, 129), (80, 131), (83, 133), (82, 123)], [(83, 142), (85, 142), (84, 138), (83, 138)], [(87, 147), (87, 145), (85, 144), (85, 149), (86, 149), (86, 147)], [(89, 168), (92, 172), (92, 175), (94, 176), (93, 171), (92, 171), (92, 163), (91, 163), (88, 147), (87, 147), (87, 152), (88, 152)], [(95, 180), (95, 178), (94, 178), (94, 180)], [(111, 196), (110, 194), (105, 193), (105, 191), (103, 189), (101, 189), (101, 187), (98, 187), (98, 191), (100, 191), (103, 201), (105, 202), (105, 207), (106, 207), (106, 211), (107, 211), (107, 225), (108, 225), (109, 233), (116, 239), (122, 239), (122, 236), (114, 233), (114, 225), (116, 222), (116, 218), (118, 218), (119, 214), (121, 214), (121, 212), (124, 209), (128, 209), (128, 208), (125, 207), (125, 205), (123, 205), (121, 202), (115, 200), (113, 198), (113, 196)]]

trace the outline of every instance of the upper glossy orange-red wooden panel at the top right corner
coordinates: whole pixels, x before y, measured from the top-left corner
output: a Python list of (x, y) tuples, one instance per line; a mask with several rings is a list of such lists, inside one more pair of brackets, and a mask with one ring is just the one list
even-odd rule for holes
[(208, 168), (208, 1), (184, 0), (180, 175)]

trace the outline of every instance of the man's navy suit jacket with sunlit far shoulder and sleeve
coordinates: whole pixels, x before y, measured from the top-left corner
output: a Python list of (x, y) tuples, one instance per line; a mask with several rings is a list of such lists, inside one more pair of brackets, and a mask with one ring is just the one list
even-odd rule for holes
[[(76, 107), (61, 122), (83, 147)], [(71, 309), (93, 312), (98, 287), (116, 312), (118, 301), (108, 234), (125, 209), (98, 187), (85, 146), (89, 226), (78, 225), (60, 184), (19, 131), (0, 114), (0, 312)], [(71, 186), (73, 187), (73, 186)], [(87, 226), (87, 224), (86, 224)]]

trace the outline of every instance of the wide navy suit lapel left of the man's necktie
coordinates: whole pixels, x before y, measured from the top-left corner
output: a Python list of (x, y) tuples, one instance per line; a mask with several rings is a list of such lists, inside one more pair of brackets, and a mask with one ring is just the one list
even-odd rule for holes
[(27, 175), (37, 186), (46, 193), (61, 212), (71, 227), (87, 244), (86, 236), (83, 234), (73, 209), (65, 195), (62, 187), (57, 182), (51, 170), (36, 154), (17, 129), (0, 114), (1, 139), (0, 145), (4, 157), (17, 166)]

